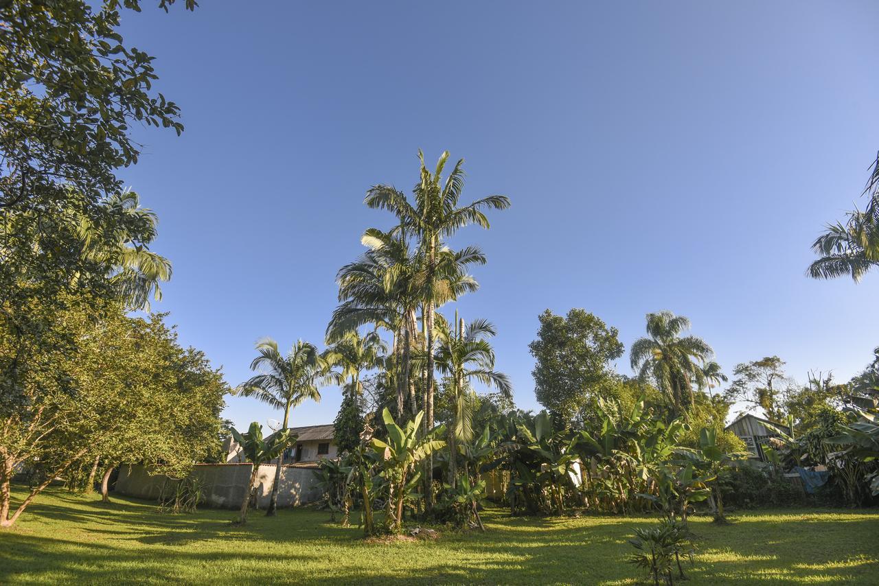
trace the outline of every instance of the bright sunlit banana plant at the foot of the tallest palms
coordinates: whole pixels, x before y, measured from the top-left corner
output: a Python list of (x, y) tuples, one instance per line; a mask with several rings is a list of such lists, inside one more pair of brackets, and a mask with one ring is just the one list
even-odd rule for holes
[(381, 459), (383, 474), (389, 483), (387, 523), (392, 532), (400, 531), (403, 525), (403, 503), (406, 496), (418, 486), (421, 473), (415, 470), (416, 464), (446, 445), (446, 442), (435, 439), (445, 431), (442, 426), (429, 431), (423, 438), (418, 437), (418, 426), (424, 416), (424, 411), (419, 411), (405, 427), (400, 427), (386, 407), (381, 412), (381, 417), (388, 430), (388, 440), (372, 439), (373, 450)]

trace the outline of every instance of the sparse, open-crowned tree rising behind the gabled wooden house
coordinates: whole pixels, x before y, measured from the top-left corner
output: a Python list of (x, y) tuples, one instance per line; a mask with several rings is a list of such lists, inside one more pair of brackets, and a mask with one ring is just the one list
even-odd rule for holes
[(784, 361), (777, 356), (767, 356), (737, 365), (733, 370), (736, 378), (725, 394), (727, 401), (750, 403), (750, 409), (759, 407), (767, 418), (781, 421), (784, 419), (781, 393), (789, 384), (783, 366)]

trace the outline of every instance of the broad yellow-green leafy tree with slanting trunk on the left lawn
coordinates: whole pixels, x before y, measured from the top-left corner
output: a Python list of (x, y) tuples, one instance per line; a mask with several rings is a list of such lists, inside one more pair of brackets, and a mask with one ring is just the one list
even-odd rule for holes
[[(106, 498), (109, 471), (119, 464), (180, 477), (219, 447), (228, 387), (200, 351), (180, 347), (163, 315), (130, 318), (117, 303), (96, 322), (91, 302), (66, 304), (57, 320), (75, 336), (75, 351), (29, 357), (46, 366), (29, 370), (27, 402), (0, 420), (0, 525), (15, 523), (49, 482), (77, 466), (102, 464)], [(18, 466), (39, 481), (12, 511), (9, 483)]]

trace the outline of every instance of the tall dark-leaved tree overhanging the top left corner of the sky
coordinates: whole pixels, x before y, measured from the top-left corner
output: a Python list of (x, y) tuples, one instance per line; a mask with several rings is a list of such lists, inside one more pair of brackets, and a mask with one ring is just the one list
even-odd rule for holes
[[(80, 300), (94, 314), (119, 293), (120, 277), (152, 272), (155, 284), (170, 274), (141, 254), (149, 222), (131, 213), (116, 175), (140, 155), (131, 127), (183, 130), (177, 105), (153, 87), (152, 57), (119, 33), (120, 7), (139, 4), (0, 3), (0, 337), (11, 342), (0, 355), (4, 416), (26, 401), (27, 371), (40, 368), (31, 358), (74, 344), (57, 319), (69, 295), (89, 293)], [(167, 10), (173, 0), (158, 4)], [(134, 305), (147, 299), (142, 280), (127, 283), (137, 289), (123, 287), (136, 293)]]

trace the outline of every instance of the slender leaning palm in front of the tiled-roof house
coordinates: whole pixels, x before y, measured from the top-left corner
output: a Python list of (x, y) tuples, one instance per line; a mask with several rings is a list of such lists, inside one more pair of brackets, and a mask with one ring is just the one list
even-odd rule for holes
[[(317, 352), (314, 344), (298, 340), (287, 356), (278, 350), (278, 343), (272, 338), (260, 340), (256, 345), (259, 352), (251, 362), (251, 371), (259, 372), (236, 387), (235, 393), (243, 397), (256, 397), (259, 401), (281, 409), (284, 419), (280, 430), (287, 430), (290, 411), (302, 402), (311, 399), (319, 402), (321, 394), (318, 386), (326, 382), (322, 377), (327, 373), (326, 360)], [(281, 453), (275, 467), (272, 485), (272, 498), (266, 515), (274, 515), (278, 510), (278, 485), (280, 467), (284, 464)]]

